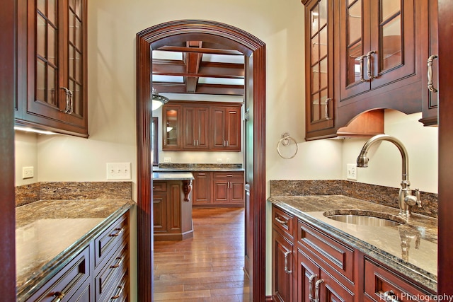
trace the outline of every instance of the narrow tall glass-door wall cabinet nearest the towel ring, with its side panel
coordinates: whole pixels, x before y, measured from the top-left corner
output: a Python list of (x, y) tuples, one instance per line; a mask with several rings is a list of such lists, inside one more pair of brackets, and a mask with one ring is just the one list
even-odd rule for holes
[[(372, 137), (384, 133), (384, 113), (367, 112), (350, 124), (338, 117), (338, 1), (309, 0), (305, 5), (305, 139)], [(348, 127), (346, 125), (348, 124)]]

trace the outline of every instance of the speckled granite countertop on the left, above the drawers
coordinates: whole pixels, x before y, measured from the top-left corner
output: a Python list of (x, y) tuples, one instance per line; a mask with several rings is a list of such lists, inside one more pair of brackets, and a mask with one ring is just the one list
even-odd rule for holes
[(42, 200), (16, 208), (18, 301), (45, 284), (135, 203), (132, 199)]

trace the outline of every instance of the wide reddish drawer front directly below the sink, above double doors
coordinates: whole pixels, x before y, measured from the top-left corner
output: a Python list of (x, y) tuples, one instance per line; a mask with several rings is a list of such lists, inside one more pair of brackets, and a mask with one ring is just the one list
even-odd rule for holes
[(336, 277), (354, 282), (354, 250), (297, 220), (297, 242), (335, 269)]

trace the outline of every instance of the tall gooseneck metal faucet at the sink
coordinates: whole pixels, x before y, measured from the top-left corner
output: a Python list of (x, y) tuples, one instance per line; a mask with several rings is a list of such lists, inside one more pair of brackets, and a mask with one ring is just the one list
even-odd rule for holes
[(401, 158), (403, 162), (402, 168), (402, 180), (401, 180), (401, 189), (399, 190), (398, 194), (398, 206), (399, 206), (399, 215), (405, 218), (411, 216), (411, 207), (415, 204), (418, 204), (418, 207), (422, 207), (420, 202), (420, 191), (415, 189), (414, 195), (412, 194), (412, 190), (409, 187), (411, 182), (409, 182), (409, 158), (408, 152), (406, 148), (404, 148), (401, 141), (396, 139), (395, 137), (391, 137), (390, 135), (386, 134), (379, 134), (371, 139), (369, 139), (365, 145), (362, 147), (362, 151), (360, 151), (359, 156), (357, 157), (357, 167), (368, 167), (369, 158), (367, 158), (367, 153), (369, 148), (376, 143), (377, 141), (390, 141), (393, 143), (401, 153)]

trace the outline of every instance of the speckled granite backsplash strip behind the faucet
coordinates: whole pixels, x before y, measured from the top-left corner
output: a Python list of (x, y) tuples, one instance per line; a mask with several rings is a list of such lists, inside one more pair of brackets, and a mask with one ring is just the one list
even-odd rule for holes
[[(270, 196), (344, 195), (387, 207), (398, 208), (395, 187), (371, 185), (349, 180), (270, 180)], [(437, 194), (420, 192), (422, 207), (413, 212), (437, 218)]]

